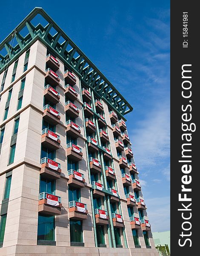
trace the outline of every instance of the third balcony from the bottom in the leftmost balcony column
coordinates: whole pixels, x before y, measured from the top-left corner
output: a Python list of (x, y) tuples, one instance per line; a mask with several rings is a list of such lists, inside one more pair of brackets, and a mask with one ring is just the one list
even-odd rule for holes
[(60, 148), (60, 136), (49, 129), (42, 130), (41, 143), (45, 148), (57, 150)]

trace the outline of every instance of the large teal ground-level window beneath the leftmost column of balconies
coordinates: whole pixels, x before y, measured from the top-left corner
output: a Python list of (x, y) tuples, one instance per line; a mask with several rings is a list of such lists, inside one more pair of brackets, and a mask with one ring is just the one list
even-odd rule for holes
[(55, 221), (54, 216), (38, 215), (37, 240), (55, 240)]

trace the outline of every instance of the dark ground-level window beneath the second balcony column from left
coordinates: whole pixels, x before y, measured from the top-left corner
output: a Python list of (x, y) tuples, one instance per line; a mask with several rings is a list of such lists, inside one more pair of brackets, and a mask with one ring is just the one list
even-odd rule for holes
[[(76, 243), (83, 243), (83, 230), (81, 221), (69, 221), (70, 227), (70, 241)], [(73, 244), (71, 244), (73, 245)]]

